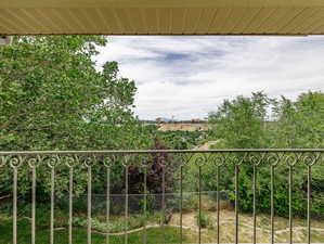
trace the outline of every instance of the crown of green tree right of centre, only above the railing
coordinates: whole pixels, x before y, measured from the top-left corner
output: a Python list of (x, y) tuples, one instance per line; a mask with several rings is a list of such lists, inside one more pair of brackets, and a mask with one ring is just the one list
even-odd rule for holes
[(239, 95), (232, 101), (225, 100), (217, 112), (209, 114), (212, 136), (221, 139), (218, 147), (267, 147), (267, 111), (271, 103), (272, 100), (262, 92), (252, 93), (251, 98)]

